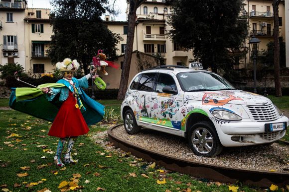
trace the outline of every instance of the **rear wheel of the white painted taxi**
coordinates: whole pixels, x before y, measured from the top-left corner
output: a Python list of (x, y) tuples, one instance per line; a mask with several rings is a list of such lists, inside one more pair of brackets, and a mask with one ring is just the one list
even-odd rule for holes
[(141, 128), (138, 126), (135, 115), (132, 110), (127, 110), (124, 118), (124, 126), (129, 134), (136, 134), (140, 132)]

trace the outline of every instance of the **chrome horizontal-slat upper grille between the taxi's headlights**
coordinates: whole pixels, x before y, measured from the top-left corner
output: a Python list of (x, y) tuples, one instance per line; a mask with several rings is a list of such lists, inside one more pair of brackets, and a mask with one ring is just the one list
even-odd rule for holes
[(250, 106), (247, 105), (248, 115), (251, 119), (258, 122), (277, 120), (278, 113), (273, 104), (266, 106)]

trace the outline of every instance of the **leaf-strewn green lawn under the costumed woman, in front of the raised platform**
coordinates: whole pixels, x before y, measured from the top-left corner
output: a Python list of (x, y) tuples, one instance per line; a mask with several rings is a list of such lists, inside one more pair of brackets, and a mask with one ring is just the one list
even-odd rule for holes
[[(159, 174), (157, 170), (163, 169), (161, 167), (147, 168), (149, 162), (126, 155), (125, 152), (104, 150), (92, 139), (93, 134), (107, 129), (100, 125), (90, 126), (91, 131), (88, 135), (78, 137), (75, 144), (77, 155), (74, 157), (79, 160), (79, 163), (68, 165), (66, 170), (61, 171), (51, 164), (54, 154), (48, 154), (39, 147), (45, 145), (47, 146), (45, 149), (56, 151), (58, 139), (47, 135), (50, 126), (51, 124), (46, 121), (14, 110), (0, 111), (0, 185), (7, 185), (4, 188), (10, 191), (37, 191), (47, 188), (56, 192), (60, 191), (58, 186), (62, 181), (70, 182), (69, 179), (73, 178), (73, 174), (80, 174), (78, 185), (83, 186), (83, 192), (96, 191), (98, 187), (107, 192), (165, 192), (165, 190), (177, 192), (187, 188), (202, 192), (229, 191), (226, 184), (217, 186), (215, 183), (208, 183), (208, 180), (196, 180), (189, 175), (176, 172)], [(107, 138), (103, 139), (107, 140)], [(43, 156), (47, 158), (42, 159)], [(35, 162), (31, 163), (33, 159)], [(41, 165), (45, 167), (38, 169), (37, 167)], [(105, 168), (100, 168), (99, 165)], [(20, 167), (30, 167), (30, 170), (24, 171)], [(54, 175), (53, 172), (58, 174)], [(28, 173), (28, 176), (17, 177), (19, 173)], [(94, 173), (99, 173), (100, 176), (96, 177)], [(130, 173), (135, 173), (137, 176), (129, 176)], [(144, 178), (141, 174), (149, 178)], [(156, 181), (160, 178), (165, 178), (166, 184), (157, 184)], [(26, 187), (27, 184), (37, 183), (42, 179), (46, 181)], [(86, 180), (89, 183), (85, 183)], [(20, 187), (13, 187), (15, 183)], [(190, 186), (187, 186), (186, 184), (189, 183)], [(239, 191), (253, 192), (254, 189), (239, 184)]]

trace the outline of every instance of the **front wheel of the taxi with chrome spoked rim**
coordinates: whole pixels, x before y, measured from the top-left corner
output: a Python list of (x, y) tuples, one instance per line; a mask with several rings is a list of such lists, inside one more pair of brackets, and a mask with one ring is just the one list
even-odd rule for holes
[(200, 122), (188, 131), (188, 142), (192, 151), (203, 157), (214, 157), (221, 153), (221, 144), (214, 125), (210, 122)]

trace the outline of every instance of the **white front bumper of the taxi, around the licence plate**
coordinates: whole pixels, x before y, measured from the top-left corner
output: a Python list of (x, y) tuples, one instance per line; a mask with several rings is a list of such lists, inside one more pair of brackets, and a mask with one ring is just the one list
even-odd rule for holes
[(246, 146), (256, 145), (262, 143), (270, 143), (282, 138), (286, 130), (278, 130), (266, 132), (265, 124), (287, 122), (289, 126), (289, 119), (281, 117), (271, 122), (229, 122), (217, 124), (219, 139), (223, 146)]

